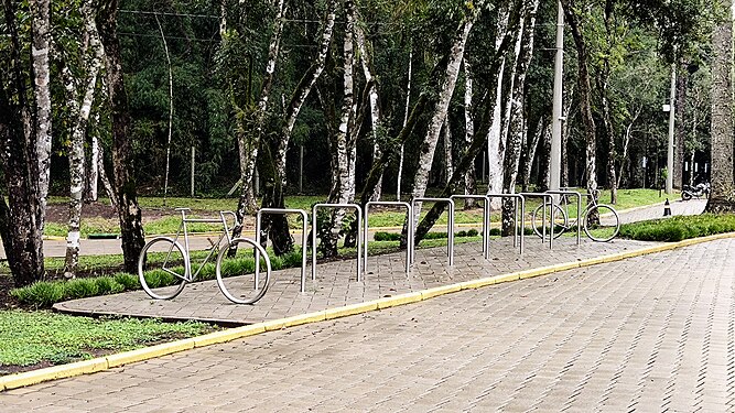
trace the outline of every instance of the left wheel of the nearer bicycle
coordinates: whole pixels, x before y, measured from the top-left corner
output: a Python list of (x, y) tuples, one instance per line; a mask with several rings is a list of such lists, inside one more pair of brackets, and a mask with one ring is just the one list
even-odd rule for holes
[[(149, 251), (166, 253), (160, 268), (158, 262), (147, 264)], [(169, 263), (172, 265), (167, 267)], [(171, 300), (175, 297), (184, 290), (188, 274), (188, 256), (179, 242), (169, 237), (156, 237), (148, 241), (138, 257), (140, 285), (151, 298)]]

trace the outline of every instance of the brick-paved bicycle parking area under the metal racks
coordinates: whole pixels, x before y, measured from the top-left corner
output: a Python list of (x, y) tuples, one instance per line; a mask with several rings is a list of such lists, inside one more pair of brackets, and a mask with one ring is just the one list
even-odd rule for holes
[(370, 272), (361, 282), (356, 281), (356, 260), (320, 264), (316, 283), (311, 282), (310, 267), (303, 294), (299, 292), (300, 269), (277, 271), (267, 294), (256, 305), (233, 304), (216, 282), (205, 281), (187, 285), (176, 298), (169, 301), (151, 300), (138, 291), (60, 303), (54, 308), (74, 314), (199, 319), (229, 325), (257, 323), (651, 244), (629, 240), (597, 243), (585, 239), (576, 246), (573, 238), (562, 237), (554, 241), (552, 252), (539, 238), (527, 237), (526, 252), (519, 257), (511, 243), (510, 239), (493, 241), (490, 260), (483, 259), (479, 242), (456, 246), (454, 267), (447, 265), (445, 248), (418, 250), (415, 265), (408, 276), (404, 253), (371, 257)]

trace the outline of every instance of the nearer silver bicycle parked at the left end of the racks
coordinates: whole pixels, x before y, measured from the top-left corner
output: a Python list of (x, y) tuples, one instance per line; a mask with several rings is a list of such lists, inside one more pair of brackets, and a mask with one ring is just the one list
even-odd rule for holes
[[(197, 278), (208, 263), (209, 259), (216, 256), (215, 272), (217, 285), (229, 301), (236, 304), (255, 304), (258, 300), (262, 298), (266, 291), (268, 291), (270, 282), (270, 259), (268, 258), (266, 250), (256, 241), (244, 237), (235, 239), (230, 237), (227, 216), (231, 215), (235, 218), (235, 226), (238, 225), (237, 216), (231, 211), (220, 211), (219, 219), (202, 219), (188, 218), (186, 213), (191, 211), (190, 208), (176, 208), (176, 211), (181, 213), (181, 224), (179, 225), (176, 235), (173, 238), (160, 236), (151, 239), (145, 243), (145, 247), (143, 247), (140, 257), (138, 258), (138, 276), (143, 291), (155, 300), (174, 298), (184, 290), (184, 286), (187, 283), (193, 282)], [(216, 242), (213, 242), (212, 239), (208, 240), (210, 243), (210, 248), (207, 249), (208, 253), (198, 264), (198, 268), (194, 273), (192, 273), (191, 251), (188, 247), (190, 224), (221, 224), (223, 227), (221, 233), (219, 233), (219, 238)], [(184, 239), (183, 247), (179, 242), (179, 238), (182, 233)], [(225, 243), (223, 243), (224, 240), (226, 240)], [(240, 243), (246, 243), (257, 249), (266, 261), (266, 275), (261, 279), (259, 271), (255, 272), (253, 289), (250, 292), (247, 292), (249, 289), (244, 287), (246, 285), (246, 281), (244, 280), (245, 276), (242, 276), (246, 275), (245, 265), (225, 261), (228, 252), (236, 251)], [(149, 261), (149, 253), (159, 257), (147, 263), (147, 261)], [(160, 259), (161, 257), (163, 257), (162, 260)], [(233, 294), (233, 291), (237, 292)]]

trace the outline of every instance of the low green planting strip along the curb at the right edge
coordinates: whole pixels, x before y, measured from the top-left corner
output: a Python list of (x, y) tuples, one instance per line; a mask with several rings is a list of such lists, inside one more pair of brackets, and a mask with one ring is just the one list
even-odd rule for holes
[(735, 215), (703, 214), (625, 224), (620, 227), (620, 237), (641, 241), (675, 242), (733, 231), (735, 231)]

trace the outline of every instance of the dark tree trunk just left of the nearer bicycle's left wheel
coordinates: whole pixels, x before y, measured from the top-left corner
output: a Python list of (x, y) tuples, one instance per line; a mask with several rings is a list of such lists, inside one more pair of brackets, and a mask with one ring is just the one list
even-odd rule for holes
[(107, 0), (97, 15), (97, 31), (107, 59), (107, 87), (112, 118), (112, 171), (115, 197), (118, 204), (125, 270), (138, 272), (138, 257), (145, 244), (141, 210), (138, 206), (137, 185), (130, 139), (128, 96), (122, 78), (122, 56), (117, 37), (118, 0)]

